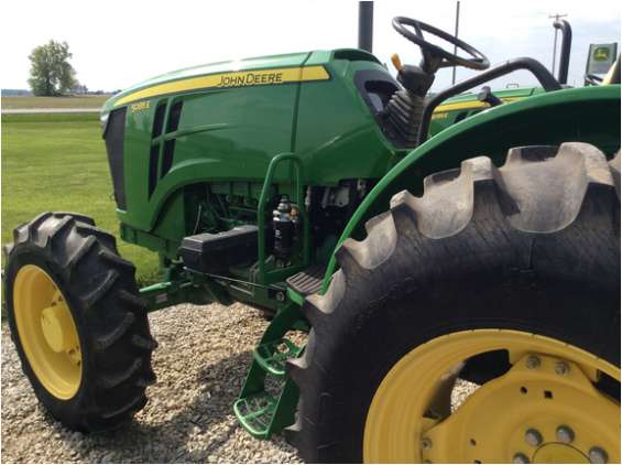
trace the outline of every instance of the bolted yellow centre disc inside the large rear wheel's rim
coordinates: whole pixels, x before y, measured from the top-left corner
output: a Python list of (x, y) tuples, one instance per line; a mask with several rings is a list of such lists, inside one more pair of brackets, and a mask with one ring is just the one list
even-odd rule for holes
[[(532, 354), (429, 429), (425, 437), (437, 446), (424, 447), (423, 457), (455, 462), (466, 458), (460, 451), (479, 462), (589, 463), (590, 448), (615, 447), (608, 440), (615, 412), (579, 366)], [(452, 440), (466, 446), (456, 447)]]

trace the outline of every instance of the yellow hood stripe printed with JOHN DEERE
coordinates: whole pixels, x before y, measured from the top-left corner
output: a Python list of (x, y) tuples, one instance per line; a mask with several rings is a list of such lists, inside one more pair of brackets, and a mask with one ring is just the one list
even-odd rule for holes
[(119, 105), (141, 100), (143, 98), (197, 89), (265, 86), (308, 80), (327, 80), (329, 78), (330, 75), (325, 67), (320, 65), (210, 74), (207, 76), (159, 84), (153, 87), (148, 87), (146, 89), (137, 90), (117, 100), (114, 106), (118, 107)]

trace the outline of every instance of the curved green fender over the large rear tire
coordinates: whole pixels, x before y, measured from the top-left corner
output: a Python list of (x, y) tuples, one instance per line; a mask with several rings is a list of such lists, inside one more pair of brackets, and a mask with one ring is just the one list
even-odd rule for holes
[(365, 237), (364, 224), (389, 208), (391, 197), (407, 190), (423, 193), (425, 176), (487, 155), (500, 165), (512, 147), (587, 142), (612, 156), (620, 148), (620, 85), (543, 93), (481, 111), (417, 147), (391, 169), (367, 195), (346, 225), (324, 277), (324, 293), (336, 269), (335, 251), (347, 239)]

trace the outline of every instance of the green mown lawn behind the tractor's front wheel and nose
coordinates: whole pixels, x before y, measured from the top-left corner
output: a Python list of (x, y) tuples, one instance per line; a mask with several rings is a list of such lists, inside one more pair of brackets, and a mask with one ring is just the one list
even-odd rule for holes
[[(97, 113), (2, 115), (2, 244), (41, 212), (78, 212), (118, 237), (106, 148)], [(157, 279), (157, 257), (121, 242), (141, 284)]]

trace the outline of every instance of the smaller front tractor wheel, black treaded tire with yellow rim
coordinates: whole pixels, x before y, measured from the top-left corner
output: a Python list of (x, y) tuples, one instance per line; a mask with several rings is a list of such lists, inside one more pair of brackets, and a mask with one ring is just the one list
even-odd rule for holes
[(39, 400), (73, 430), (110, 430), (155, 381), (146, 305), (134, 266), (92, 219), (44, 213), (6, 250), (11, 337)]

